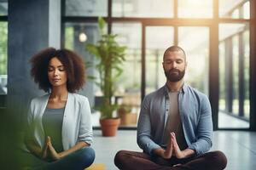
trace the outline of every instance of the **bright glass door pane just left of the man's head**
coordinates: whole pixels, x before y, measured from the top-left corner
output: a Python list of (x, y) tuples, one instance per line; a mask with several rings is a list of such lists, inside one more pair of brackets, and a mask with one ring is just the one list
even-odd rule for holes
[(145, 94), (150, 94), (166, 83), (162, 67), (163, 54), (166, 48), (174, 44), (174, 28), (173, 26), (146, 26), (145, 31)]

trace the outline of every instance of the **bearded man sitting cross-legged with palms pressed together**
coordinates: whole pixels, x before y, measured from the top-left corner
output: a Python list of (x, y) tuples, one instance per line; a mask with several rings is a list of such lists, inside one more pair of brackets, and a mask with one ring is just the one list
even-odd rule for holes
[(224, 169), (227, 159), (211, 151), (212, 111), (207, 95), (185, 84), (183, 48), (167, 48), (163, 56), (166, 84), (148, 94), (141, 105), (137, 144), (143, 150), (120, 150), (114, 163), (122, 170)]

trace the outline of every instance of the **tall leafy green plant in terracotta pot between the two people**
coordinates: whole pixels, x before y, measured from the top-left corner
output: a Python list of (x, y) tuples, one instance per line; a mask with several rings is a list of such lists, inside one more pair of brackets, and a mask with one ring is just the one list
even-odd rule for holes
[[(101, 112), (100, 123), (102, 126), (103, 136), (114, 136), (119, 125), (119, 118), (113, 117), (113, 111), (117, 109), (117, 105), (113, 104), (113, 85), (122, 72), (122, 63), (125, 60), (125, 46), (120, 46), (116, 42), (116, 34), (108, 34), (104, 32), (106, 26), (102, 17), (98, 18), (98, 26), (100, 31), (100, 40), (94, 43), (87, 43), (86, 49), (90, 54), (94, 54), (98, 59), (96, 69), (99, 71), (100, 82), (96, 84), (102, 90), (102, 104), (96, 110)], [(114, 132), (108, 132), (105, 127), (113, 127)], [(108, 125), (109, 124), (109, 125)]]

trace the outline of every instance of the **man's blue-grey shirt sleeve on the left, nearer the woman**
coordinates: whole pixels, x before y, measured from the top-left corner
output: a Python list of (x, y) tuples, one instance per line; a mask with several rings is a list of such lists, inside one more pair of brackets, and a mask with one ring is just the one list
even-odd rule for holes
[(137, 124), (137, 144), (148, 155), (153, 155), (153, 150), (160, 148), (160, 145), (154, 143), (152, 140), (149, 112), (149, 101), (148, 98), (145, 97), (145, 99), (143, 99)]

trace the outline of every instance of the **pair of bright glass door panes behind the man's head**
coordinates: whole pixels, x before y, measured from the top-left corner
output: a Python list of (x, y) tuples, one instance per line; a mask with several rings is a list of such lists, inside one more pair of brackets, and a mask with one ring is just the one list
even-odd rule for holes
[(166, 76), (162, 68), (166, 48), (174, 45), (177, 34), (178, 46), (187, 54), (188, 67), (185, 82), (208, 94), (209, 28), (203, 26), (146, 26), (146, 94), (162, 87)]

